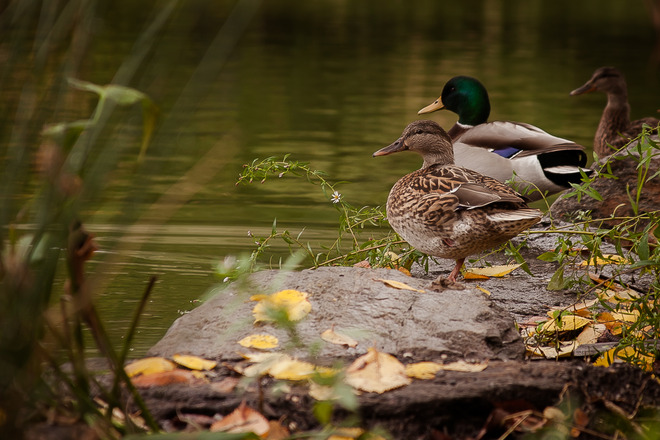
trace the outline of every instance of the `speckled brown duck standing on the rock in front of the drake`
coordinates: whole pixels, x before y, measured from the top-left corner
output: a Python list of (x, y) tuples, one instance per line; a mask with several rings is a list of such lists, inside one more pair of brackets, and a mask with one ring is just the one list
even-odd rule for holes
[(451, 138), (436, 122), (409, 124), (399, 139), (373, 156), (405, 150), (420, 154), (424, 165), (394, 184), (387, 219), (416, 249), (456, 260), (447, 277), (450, 285), (467, 256), (505, 243), (543, 216), (499, 180), (456, 166)]

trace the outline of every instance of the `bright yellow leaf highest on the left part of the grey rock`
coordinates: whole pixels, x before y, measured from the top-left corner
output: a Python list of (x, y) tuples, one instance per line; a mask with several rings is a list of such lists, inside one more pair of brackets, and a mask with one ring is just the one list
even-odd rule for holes
[(300, 321), (312, 310), (307, 300), (308, 294), (298, 290), (281, 290), (272, 295), (254, 295), (252, 301), (259, 301), (252, 314), (254, 322), (275, 321), (279, 313), (284, 313), (289, 321)]

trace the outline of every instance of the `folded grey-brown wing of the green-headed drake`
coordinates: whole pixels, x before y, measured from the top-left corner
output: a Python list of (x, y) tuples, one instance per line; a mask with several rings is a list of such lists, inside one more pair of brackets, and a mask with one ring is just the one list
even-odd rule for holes
[(485, 148), (506, 158), (557, 151), (584, 151), (584, 147), (573, 141), (553, 136), (523, 122), (493, 121), (475, 125), (454, 141)]

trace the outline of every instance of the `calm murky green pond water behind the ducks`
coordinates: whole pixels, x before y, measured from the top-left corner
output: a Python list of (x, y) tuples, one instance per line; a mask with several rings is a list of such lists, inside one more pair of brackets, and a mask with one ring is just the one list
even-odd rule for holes
[[(255, 158), (290, 153), (344, 181), (351, 204), (383, 205), (420, 160), (371, 154), (455, 75), (486, 85), (491, 119), (535, 124), (589, 148), (605, 97), (568, 93), (597, 67), (624, 71), (633, 117), (655, 114), (660, 41), (647, 3), (188, 1), (132, 66), (134, 44), (165, 2), (99, 3), (78, 77), (124, 81), (160, 109), (140, 164), (139, 114), (109, 132), (134, 148), (122, 150), (101, 196), (83, 209), (101, 248), (89, 267), (103, 274), (99, 307), (113, 338), (121, 340), (157, 275), (132, 351), (143, 355), (221, 284), (216, 264), (252, 251), (248, 231), (265, 236), (274, 219), (293, 233), (304, 228), (313, 247), (336, 237), (337, 212), (318, 186), (285, 178), (237, 187), (242, 165)], [(70, 99), (49, 122), (88, 117), (96, 102), (83, 92)], [(445, 128), (456, 120), (450, 112), (425, 116)]]

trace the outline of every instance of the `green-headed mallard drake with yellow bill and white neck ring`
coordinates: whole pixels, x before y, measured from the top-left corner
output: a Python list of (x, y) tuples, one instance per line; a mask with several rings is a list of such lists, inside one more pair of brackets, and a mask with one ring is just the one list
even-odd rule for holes
[[(530, 200), (554, 194), (582, 180), (584, 147), (521, 122), (487, 122), (490, 101), (477, 79), (456, 76), (442, 95), (418, 114), (447, 109), (458, 114), (449, 130), (456, 164), (504, 182), (515, 174), (516, 188)], [(582, 171), (590, 173), (590, 170)], [(534, 188), (539, 191), (531, 191)]]

